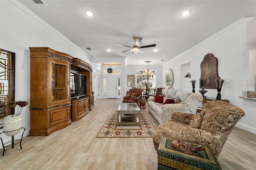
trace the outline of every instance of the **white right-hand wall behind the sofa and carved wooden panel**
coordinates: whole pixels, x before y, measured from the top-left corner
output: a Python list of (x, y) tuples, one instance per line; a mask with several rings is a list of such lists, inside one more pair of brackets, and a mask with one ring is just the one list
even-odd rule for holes
[[(191, 79), (196, 80), (195, 91), (199, 93), (200, 63), (204, 55), (212, 53), (218, 60), (218, 75), (221, 79), (224, 79), (224, 85), (221, 91), (222, 99), (230, 100), (231, 104), (240, 107), (245, 112), (245, 116), (236, 126), (256, 134), (256, 100), (238, 98), (238, 96), (243, 96), (244, 92), (246, 92), (246, 45), (248, 45), (246, 44), (246, 23), (250, 22), (250, 20), (252, 20), (252, 18), (241, 19), (191, 49), (188, 49), (171, 61), (166, 62), (162, 65), (162, 77), (166, 69), (172, 69), (174, 74), (173, 87), (174, 89), (179, 89), (180, 77), (182, 77), (182, 75), (180, 75), (180, 65), (190, 62)], [(254, 31), (255, 28), (254, 25)], [(254, 39), (254, 41), (256, 41), (256, 39)], [(164, 82), (162, 83), (164, 85)], [(192, 90), (192, 86), (189, 89), (183, 90)], [(216, 89), (206, 90), (208, 90), (205, 94), (207, 97), (217, 96)]]

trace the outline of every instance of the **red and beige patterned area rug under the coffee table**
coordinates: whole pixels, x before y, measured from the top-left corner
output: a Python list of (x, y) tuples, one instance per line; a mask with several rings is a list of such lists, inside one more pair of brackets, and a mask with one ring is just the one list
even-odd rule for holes
[[(150, 119), (148, 119), (148, 116), (144, 111), (141, 111), (141, 125), (136, 126), (136, 125), (120, 125), (119, 127), (116, 126), (117, 122), (117, 112), (112, 111), (110, 113), (110, 116), (106, 120), (105, 124), (103, 125), (102, 129), (96, 136), (97, 138), (100, 137), (110, 137), (110, 138), (115, 138), (115, 137), (153, 137), (154, 132), (156, 131), (156, 128), (154, 125), (152, 125)], [(138, 117), (138, 116), (137, 116)], [(124, 115), (121, 117), (123, 120), (130, 121), (134, 118), (134, 115)]]

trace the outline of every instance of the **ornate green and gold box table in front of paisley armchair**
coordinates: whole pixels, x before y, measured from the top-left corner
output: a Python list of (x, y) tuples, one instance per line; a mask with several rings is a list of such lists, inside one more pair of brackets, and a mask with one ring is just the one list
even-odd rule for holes
[[(172, 147), (175, 139), (162, 136), (158, 148), (158, 170), (221, 170), (218, 161), (208, 146), (202, 151), (185, 154)], [(196, 147), (199, 144), (188, 142)]]

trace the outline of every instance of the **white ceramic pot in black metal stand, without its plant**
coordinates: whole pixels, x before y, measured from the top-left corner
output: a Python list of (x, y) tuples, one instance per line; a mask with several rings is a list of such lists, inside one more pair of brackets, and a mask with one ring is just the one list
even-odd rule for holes
[(4, 132), (6, 132), (5, 134), (7, 136), (14, 136), (15, 134), (18, 134), (18, 132), (20, 132), (21, 127), (22, 127), (21, 115), (19, 116), (9, 115), (7, 117), (4, 117)]

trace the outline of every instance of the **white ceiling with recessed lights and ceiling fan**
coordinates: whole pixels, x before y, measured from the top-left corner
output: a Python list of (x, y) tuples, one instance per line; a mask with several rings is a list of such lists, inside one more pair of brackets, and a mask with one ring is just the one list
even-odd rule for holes
[[(256, 17), (255, 0), (43, 0), (47, 6), (19, 1), (91, 57), (127, 57), (128, 65), (162, 65), (237, 20)], [(190, 15), (181, 16), (184, 10)], [(122, 53), (129, 48), (116, 43), (132, 46), (134, 36), (143, 38), (139, 46), (156, 47)]]

